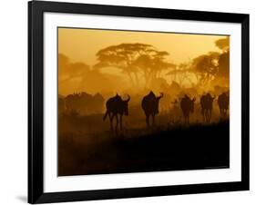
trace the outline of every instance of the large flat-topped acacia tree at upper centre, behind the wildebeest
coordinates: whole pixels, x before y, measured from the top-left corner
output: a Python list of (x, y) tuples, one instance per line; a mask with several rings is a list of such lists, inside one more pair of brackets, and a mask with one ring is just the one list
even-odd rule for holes
[(135, 86), (139, 85), (138, 76), (142, 75), (148, 86), (164, 69), (173, 66), (166, 61), (168, 55), (150, 44), (118, 44), (98, 51), (98, 63), (94, 67), (117, 67)]

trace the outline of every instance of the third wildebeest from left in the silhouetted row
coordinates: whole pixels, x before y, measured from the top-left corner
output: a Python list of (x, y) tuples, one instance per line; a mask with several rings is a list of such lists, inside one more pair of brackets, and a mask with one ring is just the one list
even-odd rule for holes
[(185, 123), (189, 123), (189, 113), (194, 112), (194, 102), (196, 98), (190, 100), (189, 96), (185, 94), (185, 96), (180, 101), (180, 108), (183, 112)]

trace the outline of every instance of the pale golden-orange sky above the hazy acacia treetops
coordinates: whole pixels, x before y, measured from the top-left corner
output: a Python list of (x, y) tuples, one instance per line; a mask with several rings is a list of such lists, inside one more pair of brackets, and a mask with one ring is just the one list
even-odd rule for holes
[[(168, 61), (171, 63), (186, 63), (200, 54), (207, 54), (214, 51), (220, 52), (220, 49), (215, 46), (215, 41), (224, 37), (223, 35), (209, 34), (172, 34), (58, 28), (58, 54), (66, 55), (71, 63), (80, 62), (93, 66), (97, 63), (96, 54), (100, 49), (106, 48), (109, 45), (140, 43), (152, 44), (159, 51), (167, 51), (169, 53)], [(101, 69), (101, 72), (118, 74), (119, 76), (121, 74), (117, 68), (109, 67)], [(123, 79), (127, 81), (126, 76)], [(76, 83), (76, 80), (73, 83)], [(65, 93), (72, 91), (71, 88), (68, 89), (70, 86), (73, 86), (72, 84), (63, 86), (66, 86), (63, 87)], [(60, 87), (60, 89), (62, 88)], [(75, 87), (73, 90), (76, 89), (78, 88)]]

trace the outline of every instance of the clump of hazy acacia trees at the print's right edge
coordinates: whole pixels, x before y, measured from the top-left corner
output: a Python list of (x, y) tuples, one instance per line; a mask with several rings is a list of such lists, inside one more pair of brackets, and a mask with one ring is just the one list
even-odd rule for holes
[[(201, 54), (192, 59), (189, 63), (180, 63), (173, 67), (169, 73), (171, 80), (183, 83), (194, 84), (194, 78), (197, 79), (197, 86), (206, 86), (213, 83), (229, 83), (230, 74), (230, 38), (220, 38), (215, 45), (221, 52), (210, 52)], [(221, 81), (220, 81), (221, 79)]]

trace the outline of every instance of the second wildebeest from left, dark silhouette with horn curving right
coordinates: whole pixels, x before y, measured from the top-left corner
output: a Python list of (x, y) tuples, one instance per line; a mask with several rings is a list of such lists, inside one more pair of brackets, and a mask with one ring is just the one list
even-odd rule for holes
[(155, 115), (159, 113), (159, 100), (163, 97), (163, 93), (160, 93), (157, 97), (153, 92), (144, 96), (141, 102), (141, 107), (146, 115), (147, 126), (150, 126), (150, 116), (152, 116), (152, 125), (155, 125)]

